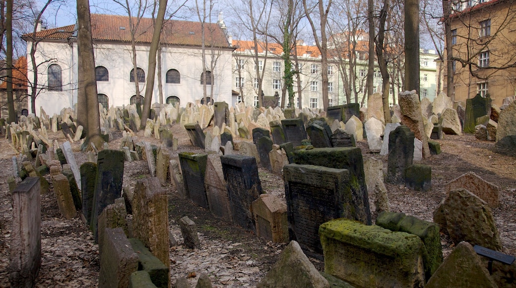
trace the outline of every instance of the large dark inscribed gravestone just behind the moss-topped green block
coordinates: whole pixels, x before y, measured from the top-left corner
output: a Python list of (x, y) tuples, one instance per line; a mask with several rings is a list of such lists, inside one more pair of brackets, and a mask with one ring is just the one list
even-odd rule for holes
[(357, 219), (349, 170), (313, 165), (283, 167), (288, 233), (305, 252), (322, 254), (319, 225), (336, 218)]

